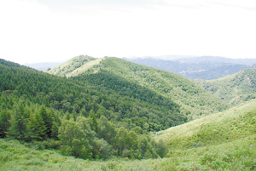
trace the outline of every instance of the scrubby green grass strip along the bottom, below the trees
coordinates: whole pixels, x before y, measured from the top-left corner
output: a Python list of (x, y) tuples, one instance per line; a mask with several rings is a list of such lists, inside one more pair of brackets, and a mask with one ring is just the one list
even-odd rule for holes
[(219, 145), (174, 151), (162, 159), (88, 161), (36, 151), (19, 142), (0, 140), (1, 170), (253, 170), (256, 136)]

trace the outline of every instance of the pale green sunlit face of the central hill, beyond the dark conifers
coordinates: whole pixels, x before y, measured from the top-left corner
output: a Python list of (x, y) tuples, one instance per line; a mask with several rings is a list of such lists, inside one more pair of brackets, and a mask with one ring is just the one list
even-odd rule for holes
[[(131, 82), (150, 88), (177, 104), (184, 111), (191, 111), (194, 118), (207, 116), (216, 111), (224, 111), (226, 105), (218, 98), (189, 79), (170, 71), (162, 71), (149, 66), (142, 66), (118, 58), (106, 58), (101, 62), (102, 69), (110, 71)], [(190, 117), (189, 116), (189, 117)]]

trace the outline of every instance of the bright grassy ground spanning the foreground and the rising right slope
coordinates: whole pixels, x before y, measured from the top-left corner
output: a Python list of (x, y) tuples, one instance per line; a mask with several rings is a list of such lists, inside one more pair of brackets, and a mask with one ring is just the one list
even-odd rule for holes
[[(0, 140), (0, 170), (253, 170), (256, 168), (255, 104), (256, 100), (252, 100), (229, 111), (160, 132), (155, 138), (163, 138), (169, 145), (170, 140), (182, 139), (179, 143), (191, 144), (198, 130), (208, 127), (202, 146), (182, 147), (173, 143), (166, 158), (141, 161), (116, 158), (96, 162), (63, 157), (57, 151), (33, 150), (33, 146), (28, 148), (14, 140)], [(212, 130), (216, 134), (212, 135)]]

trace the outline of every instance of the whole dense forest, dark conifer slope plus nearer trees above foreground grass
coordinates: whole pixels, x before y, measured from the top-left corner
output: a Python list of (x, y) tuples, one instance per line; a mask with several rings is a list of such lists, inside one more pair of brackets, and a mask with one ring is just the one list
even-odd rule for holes
[(66, 78), (0, 65), (1, 138), (81, 158), (164, 157), (149, 133), (187, 121), (171, 99), (108, 72)]

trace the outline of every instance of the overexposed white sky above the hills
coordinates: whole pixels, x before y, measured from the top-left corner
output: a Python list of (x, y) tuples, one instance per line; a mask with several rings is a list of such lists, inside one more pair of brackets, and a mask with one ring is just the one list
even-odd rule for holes
[(0, 0), (0, 58), (256, 58), (255, 0)]

